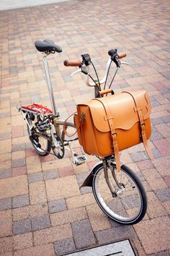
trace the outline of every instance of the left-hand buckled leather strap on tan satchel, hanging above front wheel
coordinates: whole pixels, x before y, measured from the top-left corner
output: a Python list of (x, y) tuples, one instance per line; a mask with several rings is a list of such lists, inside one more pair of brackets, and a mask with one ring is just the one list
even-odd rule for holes
[[(102, 103), (102, 101), (100, 101), (99, 98), (95, 98), (94, 101), (99, 101)], [(115, 127), (113, 123), (114, 116), (111, 116), (108, 106), (105, 106), (103, 103), (102, 105), (104, 106), (104, 111), (106, 112), (105, 119), (109, 123), (109, 129), (112, 135), (112, 145), (115, 153), (116, 168), (117, 168), (117, 171), (120, 171), (120, 153), (119, 153), (119, 148), (117, 143), (117, 133), (115, 132)]]

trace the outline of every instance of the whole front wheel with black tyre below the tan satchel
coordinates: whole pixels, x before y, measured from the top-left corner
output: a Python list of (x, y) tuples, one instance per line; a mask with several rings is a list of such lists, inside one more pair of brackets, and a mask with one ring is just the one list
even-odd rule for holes
[(117, 223), (135, 224), (146, 214), (147, 197), (143, 184), (125, 165), (116, 170), (115, 163), (107, 168), (112, 193), (104, 178), (104, 168), (99, 164), (93, 176), (92, 189), (99, 207)]

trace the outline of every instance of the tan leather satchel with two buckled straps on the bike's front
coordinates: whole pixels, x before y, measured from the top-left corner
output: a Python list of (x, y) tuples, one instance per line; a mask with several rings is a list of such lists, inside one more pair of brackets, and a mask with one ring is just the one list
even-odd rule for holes
[(119, 151), (143, 142), (146, 151), (151, 136), (151, 105), (145, 90), (134, 90), (94, 98), (77, 106), (74, 122), (79, 143), (90, 155), (115, 154), (120, 170)]

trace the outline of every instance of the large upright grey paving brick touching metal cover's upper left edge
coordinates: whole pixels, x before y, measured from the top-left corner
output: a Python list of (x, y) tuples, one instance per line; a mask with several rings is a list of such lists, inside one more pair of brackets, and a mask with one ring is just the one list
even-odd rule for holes
[(89, 220), (76, 221), (71, 224), (73, 239), (77, 249), (96, 244)]

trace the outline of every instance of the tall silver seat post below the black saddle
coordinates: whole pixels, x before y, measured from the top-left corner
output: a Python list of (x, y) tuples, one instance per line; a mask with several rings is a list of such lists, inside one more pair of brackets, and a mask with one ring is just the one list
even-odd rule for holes
[(52, 87), (52, 83), (50, 80), (50, 72), (49, 72), (49, 68), (48, 68), (48, 60), (47, 60), (46, 54), (43, 54), (43, 63), (44, 63), (44, 67), (45, 67), (45, 75), (46, 75), (46, 80), (48, 83), (48, 91), (50, 94), (50, 102), (51, 102), (52, 110), (53, 110), (54, 114), (57, 114), (54, 95), (53, 95), (53, 87)]

